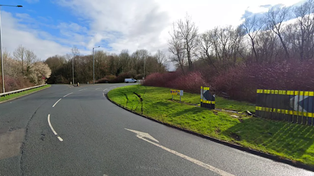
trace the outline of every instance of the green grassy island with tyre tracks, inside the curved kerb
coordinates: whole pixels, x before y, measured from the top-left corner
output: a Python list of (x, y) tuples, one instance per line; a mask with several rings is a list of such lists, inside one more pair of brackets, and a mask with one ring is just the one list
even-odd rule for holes
[[(176, 101), (171, 101), (168, 88), (132, 85), (113, 89), (108, 92), (108, 97), (158, 121), (314, 166), (314, 127), (244, 114), (234, 114), (235, 117), (231, 113), (188, 105), (199, 103), (199, 94), (185, 92), (183, 103), (178, 103), (178, 96), (175, 96)], [(238, 111), (253, 111), (254, 108), (245, 102), (220, 97), (216, 97), (216, 107)]]

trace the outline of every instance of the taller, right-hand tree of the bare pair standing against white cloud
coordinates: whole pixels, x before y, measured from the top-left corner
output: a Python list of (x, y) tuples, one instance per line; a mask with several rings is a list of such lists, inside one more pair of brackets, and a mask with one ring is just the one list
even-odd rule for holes
[(179, 20), (177, 25), (180, 31), (180, 37), (184, 41), (189, 69), (192, 70), (192, 52), (197, 46), (198, 28), (188, 15), (186, 15), (184, 21)]

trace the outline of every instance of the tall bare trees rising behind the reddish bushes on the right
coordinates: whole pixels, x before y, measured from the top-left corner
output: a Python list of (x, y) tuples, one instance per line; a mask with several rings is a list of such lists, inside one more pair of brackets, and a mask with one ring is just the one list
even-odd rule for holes
[(239, 26), (215, 27), (203, 33), (190, 16), (173, 23), (169, 59), (184, 72), (197, 64), (217, 72), (238, 63), (310, 60), (314, 56), (314, 3), (275, 6), (267, 13), (246, 15)]

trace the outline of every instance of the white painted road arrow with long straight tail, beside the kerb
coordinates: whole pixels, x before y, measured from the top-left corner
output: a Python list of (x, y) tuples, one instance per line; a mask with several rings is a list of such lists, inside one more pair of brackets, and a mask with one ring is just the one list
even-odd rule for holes
[(155, 139), (154, 137), (152, 137), (150, 134), (148, 134), (148, 133), (146, 133), (146, 132), (139, 132), (139, 131), (130, 130), (130, 129), (127, 129), (127, 128), (124, 128), (124, 129), (136, 133), (136, 137), (138, 137), (138, 138), (140, 138), (140, 139), (142, 139), (142, 140), (144, 140), (144, 141), (146, 141), (146, 142), (149, 142), (149, 143), (151, 143), (151, 144), (154, 144), (155, 146), (160, 147), (160, 148), (162, 148), (162, 149), (164, 149), (164, 150), (166, 150), (166, 151), (168, 151), (168, 152), (170, 152), (170, 153), (173, 153), (173, 154), (175, 154), (175, 155), (177, 155), (177, 156), (179, 156), (179, 157), (181, 157), (181, 158), (187, 159), (187, 160), (191, 161), (192, 163), (195, 163), (195, 164), (197, 164), (197, 165), (199, 165), (199, 166), (202, 166), (202, 167), (204, 167), (204, 168), (206, 168), (206, 169), (208, 169), (208, 170), (211, 170), (211, 171), (213, 171), (213, 172), (215, 172), (215, 173), (218, 173), (218, 174), (220, 174), (221, 176), (234, 176), (234, 175), (232, 175), (231, 173), (227, 173), (227, 172), (225, 172), (225, 171), (223, 171), (223, 170), (220, 170), (220, 169), (218, 169), (218, 168), (215, 168), (214, 166), (211, 166), (211, 165), (209, 165), (209, 164), (206, 164), (206, 163), (203, 163), (203, 162), (201, 162), (201, 161), (198, 161), (197, 159), (188, 157), (187, 155), (184, 155), (184, 154), (182, 154), (182, 153), (179, 153), (179, 152), (176, 152), (176, 151), (174, 151), (174, 150), (171, 150), (170, 148), (166, 148), (166, 147), (164, 147), (164, 146), (162, 146), (162, 145), (156, 144), (155, 142), (149, 141), (149, 140), (145, 139), (144, 137), (149, 138), (149, 139), (151, 139), (151, 140), (153, 140), (153, 141), (159, 142), (157, 139)]

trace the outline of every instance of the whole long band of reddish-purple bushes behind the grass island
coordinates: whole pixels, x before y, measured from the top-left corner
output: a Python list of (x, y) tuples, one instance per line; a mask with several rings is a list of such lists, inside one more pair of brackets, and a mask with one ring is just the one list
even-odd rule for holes
[(154, 73), (143, 85), (182, 89), (198, 93), (201, 85), (210, 86), (216, 94), (227, 93), (231, 99), (255, 102), (256, 89), (314, 91), (314, 61), (251, 63), (226, 71), (200, 70), (186, 73)]

